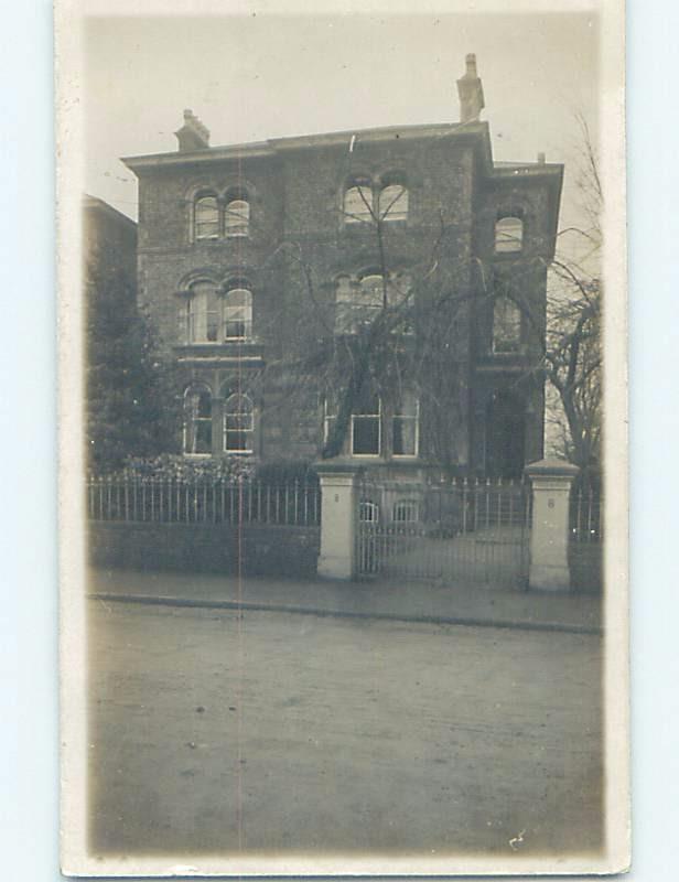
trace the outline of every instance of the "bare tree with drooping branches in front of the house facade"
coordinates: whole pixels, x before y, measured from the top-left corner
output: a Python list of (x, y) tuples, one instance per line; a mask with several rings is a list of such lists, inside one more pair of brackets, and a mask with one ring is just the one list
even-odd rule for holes
[(441, 209), (425, 255), (419, 249), (405, 257), (408, 234), (398, 222), (407, 190), (395, 184), (373, 198), (358, 181), (354, 191), (353, 203), (345, 198), (337, 208), (338, 219), (359, 255), (354, 262), (369, 269), (360, 278), (325, 273), (313, 244), (281, 244), (277, 258), (284, 261), (292, 290), (305, 297), (285, 303), (294, 347), (271, 359), (267, 370), (294, 377), (293, 394), (313, 389), (324, 400), (323, 458), (342, 452), (352, 416), (371, 398), (398, 413), (412, 394), (427, 413), (430, 456), (452, 466), (468, 345), (461, 319), (472, 304), (470, 281), (450, 250), (451, 218)]

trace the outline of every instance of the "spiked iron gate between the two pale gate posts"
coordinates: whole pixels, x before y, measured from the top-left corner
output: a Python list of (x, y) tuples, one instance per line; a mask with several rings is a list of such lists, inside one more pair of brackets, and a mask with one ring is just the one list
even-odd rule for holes
[(376, 577), (525, 587), (530, 494), (522, 482), (364, 482), (357, 571)]

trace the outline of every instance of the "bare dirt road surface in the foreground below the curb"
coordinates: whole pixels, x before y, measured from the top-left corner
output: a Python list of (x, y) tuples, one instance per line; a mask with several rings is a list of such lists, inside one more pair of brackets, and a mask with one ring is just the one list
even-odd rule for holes
[(90, 602), (95, 854), (595, 850), (601, 637)]

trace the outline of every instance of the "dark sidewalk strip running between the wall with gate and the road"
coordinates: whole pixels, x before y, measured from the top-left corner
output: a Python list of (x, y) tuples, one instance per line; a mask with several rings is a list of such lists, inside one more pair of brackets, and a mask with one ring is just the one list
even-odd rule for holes
[(600, 633), (601, 598), (429, 582), (326, 582), (93, 569), (101, 600)]

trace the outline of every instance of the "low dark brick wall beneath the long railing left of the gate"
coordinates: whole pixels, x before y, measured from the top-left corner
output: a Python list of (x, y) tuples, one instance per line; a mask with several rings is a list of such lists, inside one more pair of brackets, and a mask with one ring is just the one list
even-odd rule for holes
[(89, 560), (98, 567), (246, 576), (313, 577), (319, 527), (217, 524), (89, 523)]

